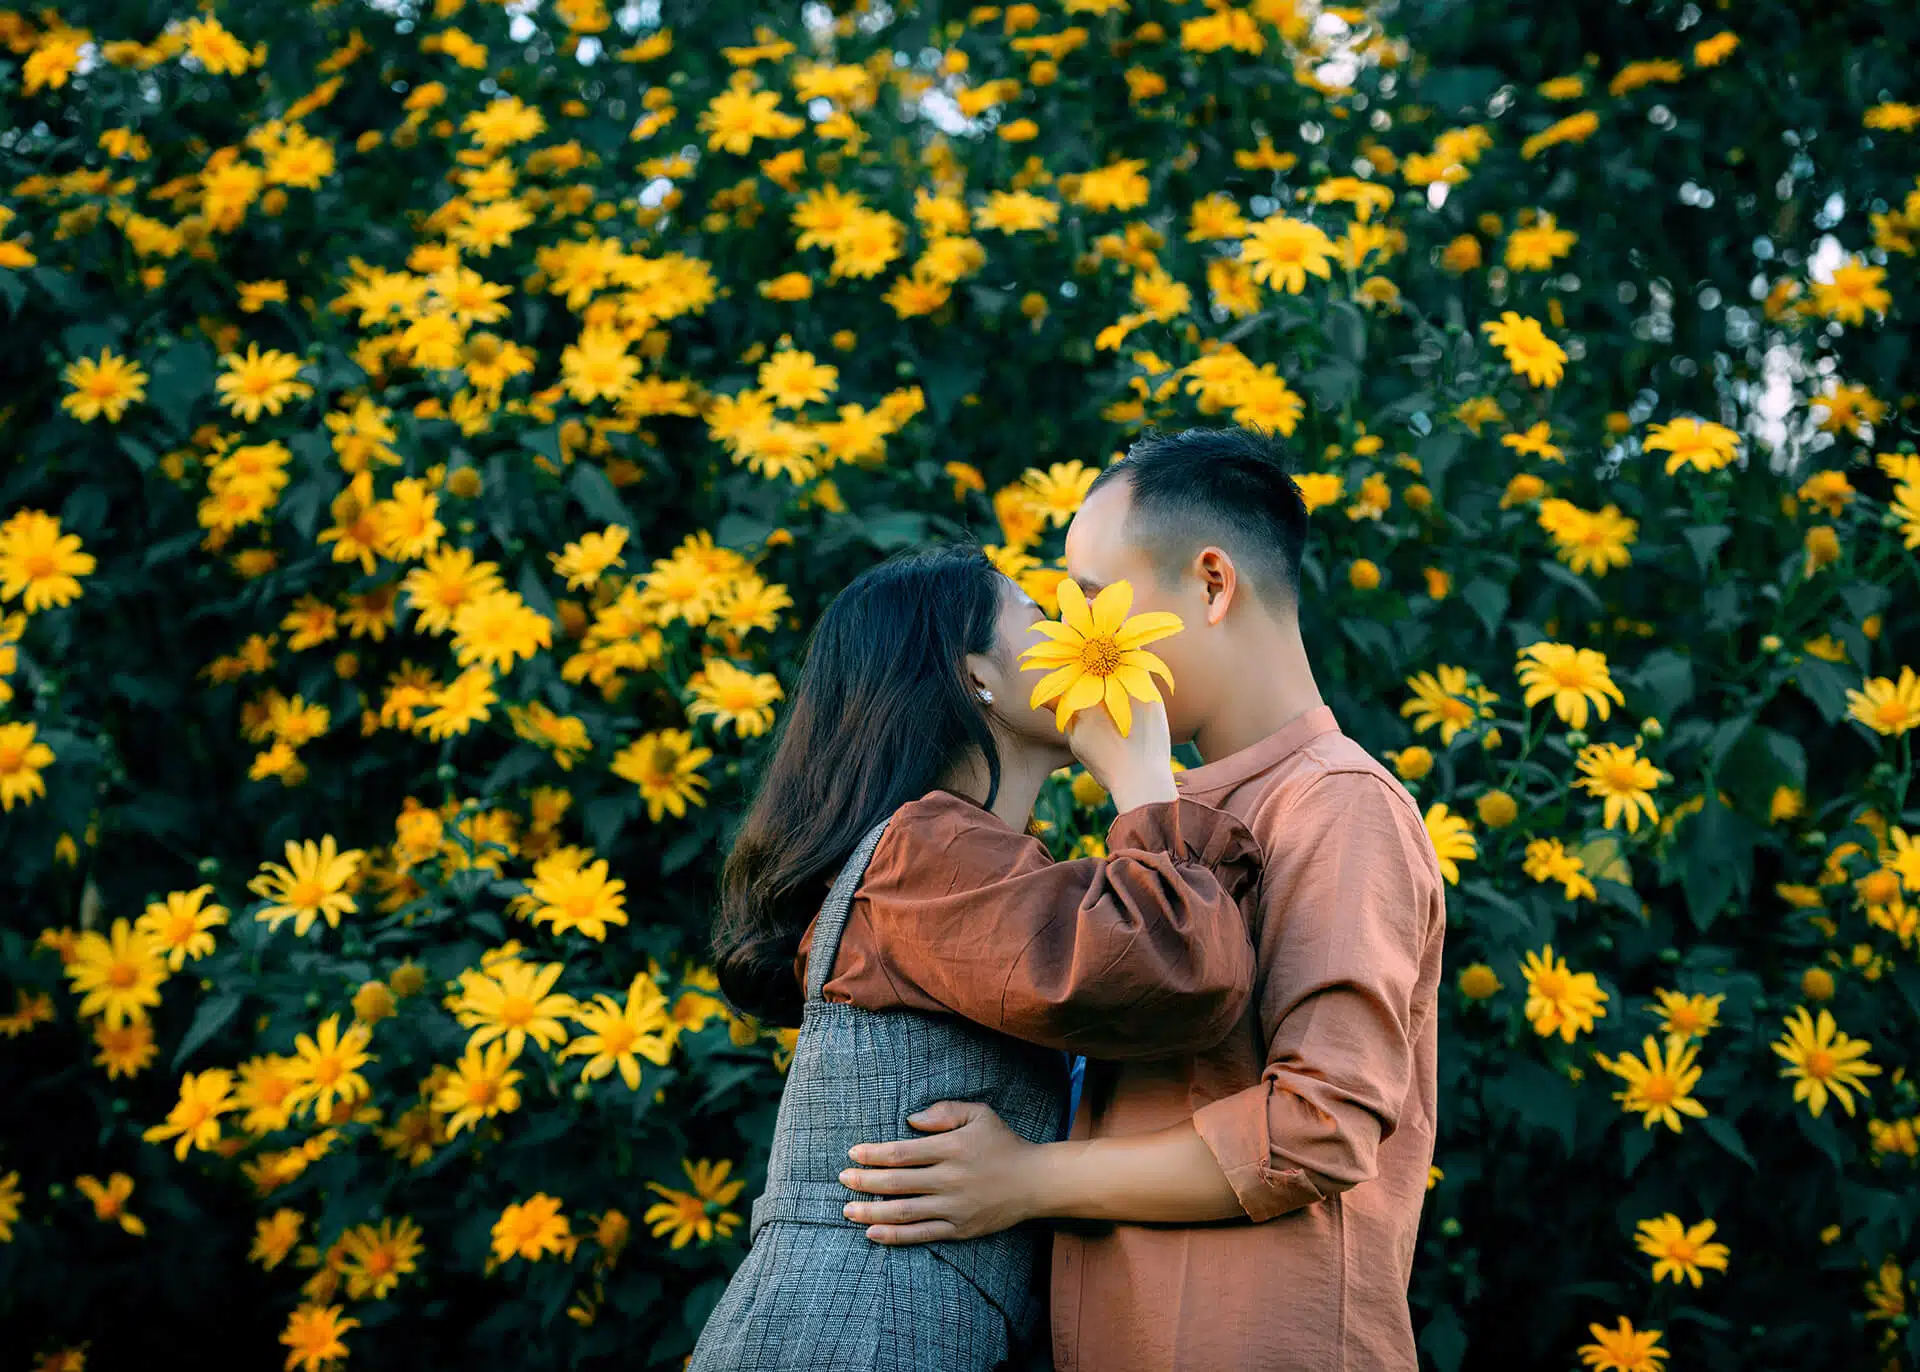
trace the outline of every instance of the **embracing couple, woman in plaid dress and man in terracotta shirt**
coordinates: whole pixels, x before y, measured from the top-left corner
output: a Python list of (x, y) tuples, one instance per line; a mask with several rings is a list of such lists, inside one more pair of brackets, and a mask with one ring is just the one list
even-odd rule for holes
[[(1321, 702), (1306, 532), (1250, 430), (1098, 476), (1068, 574), (1185, 626), (1125, 735), (1029, 704), (1043, 612), (977, 551), (828, 606), (722, 879), (722, 988), (801, 1034), (693, 1372), (1413, 1372), (1446, 900)], [(1073, 758), (1117, 817), (1054, 862)]]

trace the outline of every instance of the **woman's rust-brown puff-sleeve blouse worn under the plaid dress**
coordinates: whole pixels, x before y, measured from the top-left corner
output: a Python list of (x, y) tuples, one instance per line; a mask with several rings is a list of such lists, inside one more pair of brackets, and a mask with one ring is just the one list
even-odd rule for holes
[(879, 840), (826, 998), (964, 1015), (1108, 1059), (1192, 1053), (1252, 998), (1240, 902), (1258, 877), (1254, 837), (1196, 800), (1129, 810), (1106, 858), (1054, 862), (1039, 839), (935, 791)]

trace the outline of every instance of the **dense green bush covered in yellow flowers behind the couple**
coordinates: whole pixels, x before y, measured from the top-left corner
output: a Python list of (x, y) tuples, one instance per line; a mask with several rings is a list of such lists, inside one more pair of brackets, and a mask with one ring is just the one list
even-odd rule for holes
[(1920, 1364), (1920, 15), (1588, 10), (0, 8), (8, 1353), (678, 1366), (808, 624), (1256, 424), (1448, 881), (1427, 1364)]

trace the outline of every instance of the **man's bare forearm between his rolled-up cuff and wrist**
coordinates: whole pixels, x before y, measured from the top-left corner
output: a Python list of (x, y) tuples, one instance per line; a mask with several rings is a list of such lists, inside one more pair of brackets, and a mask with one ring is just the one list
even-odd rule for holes
[(1198, 1224), (1246, 1215), (1192, 1121), (1158, 1134), (1044, 1144), (1037, 1161), (1041, 1217)]

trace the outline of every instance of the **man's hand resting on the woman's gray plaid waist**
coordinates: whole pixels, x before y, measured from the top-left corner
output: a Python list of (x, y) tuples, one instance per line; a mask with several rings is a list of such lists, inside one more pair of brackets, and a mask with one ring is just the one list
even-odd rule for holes
[[(1104, 714), (1104, 712), (1102, 712)], [(860, 1144), (860, 1167), (839, 1174), (852, 1192), (902, 1199), (851, 1201), (845, 1215), (876, 1243), (933, 1243), (998, 1234), (1039, 1215), (1043, 1144), (1010, 1130), (993, 1107), (939, 1101), (908, 1124), (929, 1138)]]

